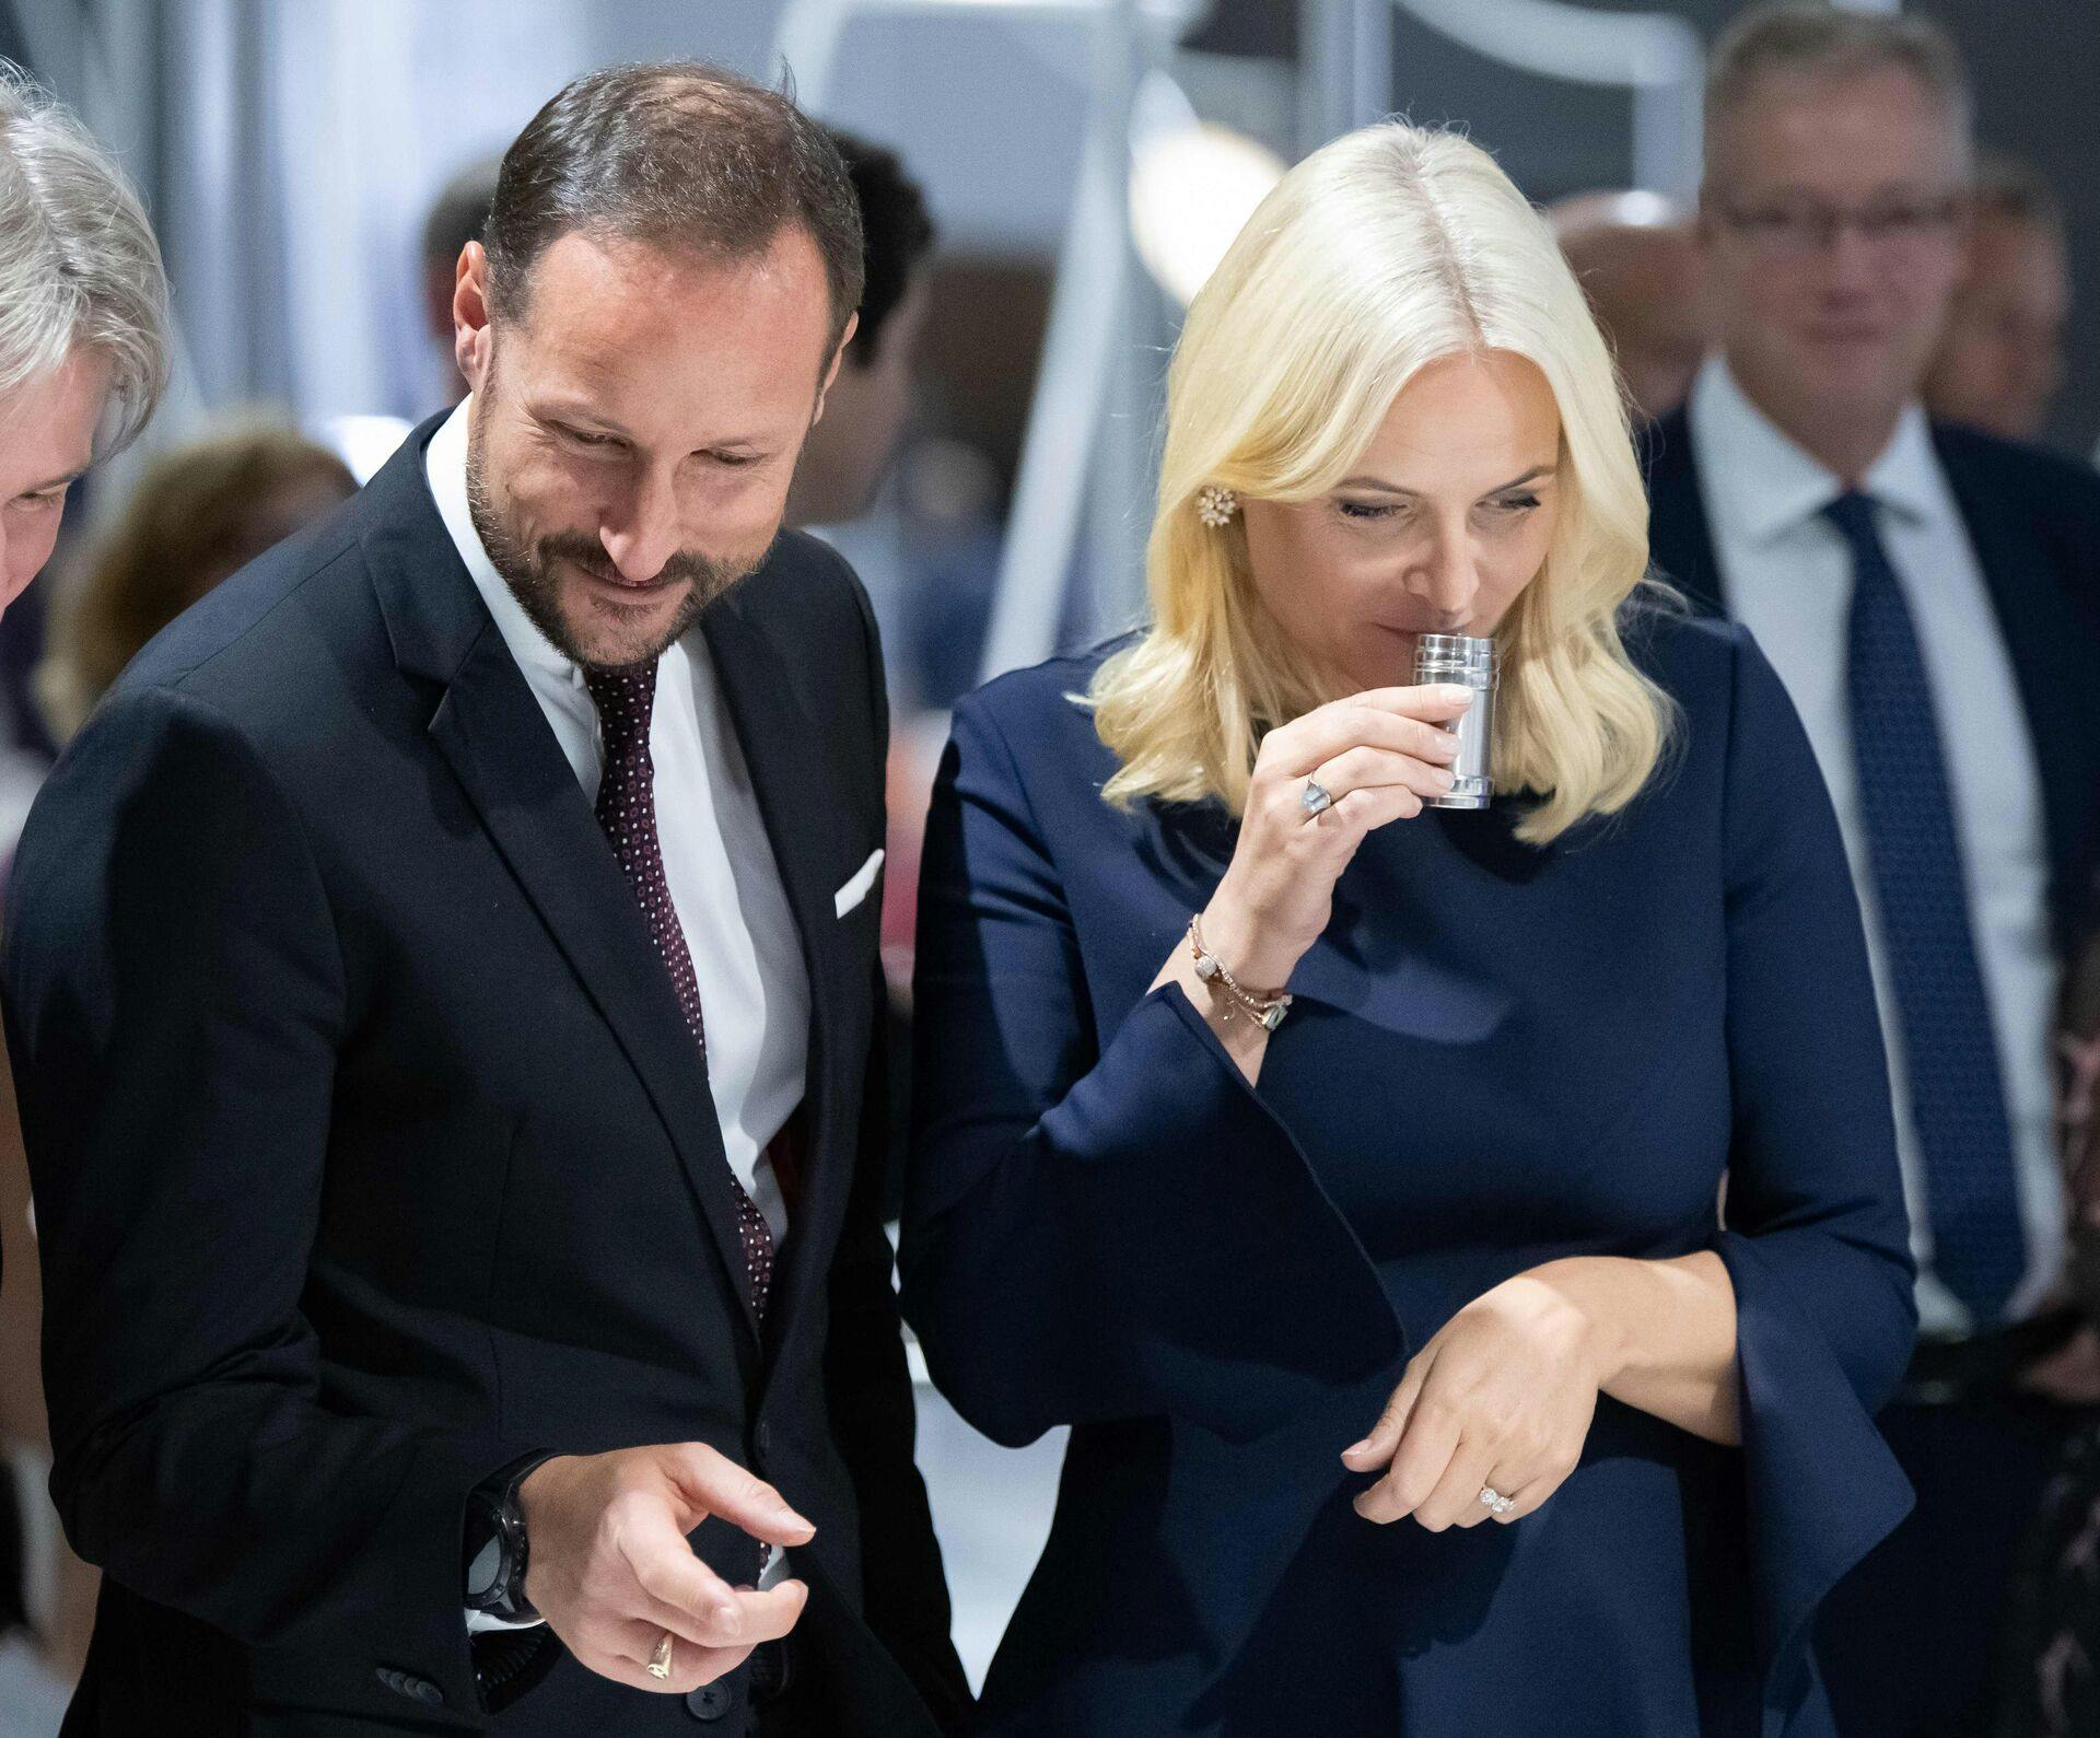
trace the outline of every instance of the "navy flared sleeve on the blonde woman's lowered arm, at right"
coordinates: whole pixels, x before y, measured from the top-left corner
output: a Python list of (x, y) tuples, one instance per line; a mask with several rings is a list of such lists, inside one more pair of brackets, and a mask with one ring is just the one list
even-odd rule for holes
[(1760, 1654), (1798, 1698), (1816, 1604), (1911, 1509), (1871, 1415), (1917, 1329), (1888, 1066), (1838, 817), (1741, 628), (1724, 775), (1732, 1142), (1716, 1249), (1737, 1371)]

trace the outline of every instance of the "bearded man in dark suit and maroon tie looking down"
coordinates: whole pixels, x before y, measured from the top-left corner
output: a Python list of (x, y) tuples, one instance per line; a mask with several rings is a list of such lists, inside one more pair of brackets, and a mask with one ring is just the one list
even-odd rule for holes
[(69, 1732), (960, 1713), (872, 1192), (880, 659), (779, 535), (859, 250), (777, 94), (578, 80), (460, 258), (472, 397), (46, 787)]

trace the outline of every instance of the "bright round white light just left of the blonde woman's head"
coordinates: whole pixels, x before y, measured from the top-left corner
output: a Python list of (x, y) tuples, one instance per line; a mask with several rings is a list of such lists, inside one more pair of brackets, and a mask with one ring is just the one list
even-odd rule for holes
[(1174, 80), (1149, 73), (1130, 120), (1130, 239), (1153, 281), (1189, 306), (1283, 170), (1266, 145), (1197, 120)]

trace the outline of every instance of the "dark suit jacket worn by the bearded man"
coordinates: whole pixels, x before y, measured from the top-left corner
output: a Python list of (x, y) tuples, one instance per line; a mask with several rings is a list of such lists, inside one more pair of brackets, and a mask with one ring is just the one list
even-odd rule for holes
[(52, 1488), (107, 1572), (67, 1732), (695, 1730), (567, 1654), (491, 1721), (460, 1530), (517, 1455), (699, 1440), (817, 1524), (798, 1658), (840, 1730), (930, 1734), (964, 1692), (859, 1186), (880, 900), (834, 911), (882, 842), (863, 594), (785, 537), (704, 619), (811, 974), (762, 1348), (704, 1066), (433, 426), (139, 657), (15, 863)]

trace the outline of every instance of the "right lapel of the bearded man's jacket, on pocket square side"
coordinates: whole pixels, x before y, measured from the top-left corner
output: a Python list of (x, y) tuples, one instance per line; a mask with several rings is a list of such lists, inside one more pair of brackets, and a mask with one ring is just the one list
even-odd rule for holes
[(865, 1054), (865, 1043), (848, 1054), (850, 1033), (842, 1029), (853, 999), (865, 1001), (872, 991), (855, 980), (832, 903), (842, 852), (832, 844), (830, 823), (850, 812), (846, 772), (832, 762), (823, 733), (796, 697), (773, 634), (754, 619), (752, 584), (718, 598), (701, 617), (701, 632), (752, 775), (752, 791), (808, 970), (804, 1180), (800, 1211), (775, 1280), (771, 1337), (777, 1348), (802, 1316), (798, 1306), (827, 1264), (846, 1207), (861, 1123), (855, 1062)]

